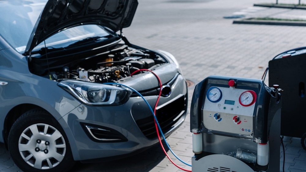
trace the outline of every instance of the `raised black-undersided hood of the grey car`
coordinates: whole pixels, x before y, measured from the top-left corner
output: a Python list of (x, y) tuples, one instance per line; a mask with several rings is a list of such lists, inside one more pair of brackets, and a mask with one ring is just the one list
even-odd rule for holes
[(117, 32), (129, 27), (137, 0), (49, 0), (40, 14), (24, 54), (58, 31), (82, 24), (98, 24)]

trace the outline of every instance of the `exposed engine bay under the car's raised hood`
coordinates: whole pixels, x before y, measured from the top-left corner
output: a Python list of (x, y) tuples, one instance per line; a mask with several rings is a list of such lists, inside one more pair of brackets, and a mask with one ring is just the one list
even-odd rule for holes
[(165, 58), (153, 51), (126, 45), (99, 55), (73, 57), (74, 60), (67, 60), (67, 57), (59, 60), (59, 57), (52, 57), (50, 54), (48, 56), (51, 58), (42, 56), (31, 58), (30, 71), (57, 81), (75, 79), (98, 83), (117, 82), (129, 77), (136, 70), (167, 63)]

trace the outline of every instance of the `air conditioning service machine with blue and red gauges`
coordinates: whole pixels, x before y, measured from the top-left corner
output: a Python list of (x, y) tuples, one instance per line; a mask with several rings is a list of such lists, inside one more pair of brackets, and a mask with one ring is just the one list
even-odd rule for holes
[(281, 94), (263, 80), (209, 76), (190, 109), (192, 172), (280, 169)]

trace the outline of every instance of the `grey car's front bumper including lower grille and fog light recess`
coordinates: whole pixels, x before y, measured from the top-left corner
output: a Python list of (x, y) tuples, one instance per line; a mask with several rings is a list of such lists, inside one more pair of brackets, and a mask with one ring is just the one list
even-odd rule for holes
[[(171, 94), (160, 97), (157, 107), (157, 119), (166, 137), (184, 122), (187, 97), (186, 81), (182, 75), (177, 75)], [(157, 96), (145, 96), (145, 99), (154, 108)], [(75, 142), (71, 144), (74, 160), (132, 154), (158, 143), (153, 115), (141, 97), (131, 97), (120, 106), (81, 104), (61, 120), (69, 127), (66, 133), (72, 133), (74, 138), (69, 139), (70, 143)], [(88, 132), (88, 127), (92, 132)]]

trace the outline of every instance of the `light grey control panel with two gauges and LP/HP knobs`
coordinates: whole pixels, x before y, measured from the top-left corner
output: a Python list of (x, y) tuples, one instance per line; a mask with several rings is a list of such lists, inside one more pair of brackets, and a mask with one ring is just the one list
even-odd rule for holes
[(203, 124), (209, 130), (250, 135), (256, 93), (234, 87), (210, 87), (203, 106)]

